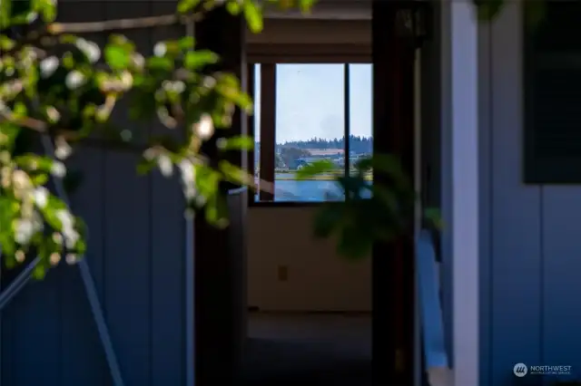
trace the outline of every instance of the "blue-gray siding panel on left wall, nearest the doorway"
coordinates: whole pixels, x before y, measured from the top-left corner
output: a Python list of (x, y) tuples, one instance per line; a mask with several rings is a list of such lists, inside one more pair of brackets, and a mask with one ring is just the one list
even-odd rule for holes
[[(177, 3), (153, 2), (153, 14), (172, 14)], [(162, 27), (152, 32), (153, 42), (180, 38), (183, 27)], [(153, 135), (175, 135), (153, 123)], [(175, 130), (173, 130), (175, 131)], [(184, 200), (179, 179), (152, 175), (150, 210), (152, 237), (152, 384), (184, 382)], [(192, 256), (193, 257), (193, 256)], [(192, 328), (192, 327), (191, 327)], [(192, 363), (193, 365), (193, 363)]]

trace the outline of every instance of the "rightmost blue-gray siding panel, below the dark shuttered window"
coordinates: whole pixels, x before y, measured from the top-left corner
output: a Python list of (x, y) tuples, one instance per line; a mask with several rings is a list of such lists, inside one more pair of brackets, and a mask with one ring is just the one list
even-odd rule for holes
[(572, 293), (579, 285), (581, 245), (579, 217), (581, 188), (543, 188), (543, 363), (571, 365), (581, 377), (581, 298)]

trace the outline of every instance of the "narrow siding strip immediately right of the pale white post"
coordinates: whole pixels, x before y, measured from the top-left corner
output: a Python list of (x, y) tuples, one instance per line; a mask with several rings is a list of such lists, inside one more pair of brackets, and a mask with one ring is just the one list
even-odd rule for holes
[(478, 33), (478, 99), (479, 99), (479, 174), (480, 179), (480, 382), (483, 385), (490, 384), (490, 327), (491, 327), (491, 270), (492, 256), (490, 249), (492, 247), (491, 219), (492, 211), (492, 183), (491, 183), (491, 140), (492, 125), (490, 111), (490, 91), (492, 83), (492, 74), (490, 69), (490, 24), (481, 24)]

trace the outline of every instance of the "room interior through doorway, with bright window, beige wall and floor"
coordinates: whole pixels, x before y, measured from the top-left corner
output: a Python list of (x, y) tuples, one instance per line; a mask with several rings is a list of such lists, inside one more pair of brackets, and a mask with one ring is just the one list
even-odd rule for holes
[(294, 63), (290, 50), (286, 63), (265, 58), (249, 74), (256, 106), (250, 164), (275, 189), (250, 201), (246, 381), (370, 385), (370, 256), (349, 262), (332, 241), (312, 236), (317, 206), (340, 193), (334, 181), (291, 179), (297, 160), (330, 159), (347, 174), (372, 152), (370, 50), (358, 57), (327, 45), (325, 57), (308, 48)]

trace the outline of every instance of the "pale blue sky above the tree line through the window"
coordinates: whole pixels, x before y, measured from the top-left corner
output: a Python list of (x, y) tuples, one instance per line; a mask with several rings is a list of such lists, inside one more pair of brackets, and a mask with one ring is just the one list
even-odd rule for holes
[[(254, 131), (260, 141), (260, 76), (255, 79)], [(343, 79), (343, 64), (277, 64), (277, 143), (341, 138)], [(371, 135), (371, 110), (371, 64), (350, 64), (351, 135)]]

